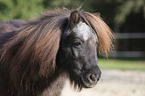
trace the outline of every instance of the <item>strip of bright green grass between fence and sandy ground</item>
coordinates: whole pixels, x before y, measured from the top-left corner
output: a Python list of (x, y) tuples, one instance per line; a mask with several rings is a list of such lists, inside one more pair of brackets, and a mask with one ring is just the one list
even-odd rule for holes
[(145, 70), (145, 60), (99, 59), (98, 64), (102, 69)]

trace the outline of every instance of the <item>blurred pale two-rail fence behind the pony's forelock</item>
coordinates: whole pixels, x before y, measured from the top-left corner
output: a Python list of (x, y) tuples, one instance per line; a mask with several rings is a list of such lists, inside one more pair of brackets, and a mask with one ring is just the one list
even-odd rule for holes
[[(116, 41), (120, 39), (145, 39), (145, 33), (114, 33), (114, 36)], [(145, 42), (142, 45), (145, 46)], [(115, 42), (115, 47), (117, 46), (118, 44)], [(110, 57), (145, 57), (145, 49), (143, 51), (118, 51), (115, 49)]]

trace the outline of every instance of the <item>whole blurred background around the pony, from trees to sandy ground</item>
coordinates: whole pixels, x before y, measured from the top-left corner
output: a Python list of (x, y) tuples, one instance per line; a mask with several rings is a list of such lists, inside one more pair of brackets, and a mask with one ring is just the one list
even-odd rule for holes
[[(116, 38), (114, 51), (109, 57), (99, 56), (103, 75), (97, 90), (102, 93), (94, 94), (109, 96), (107, 92), (112, 92), (110, 96), (145, 96), (145, 0), (0, 0), (0, 21), (35, 19), (45, 10), (58, 7), (72, 9), (82, 4), (83, 10), (100, 13)], [(115, 80), (114, 86), (109, 85)], [(127, 82), (120, 81), (118, 85), (119, 80)], [(108, 85), (104, 85), (107, 82)], [(88, 96), (86, 94), (77, 96)]]

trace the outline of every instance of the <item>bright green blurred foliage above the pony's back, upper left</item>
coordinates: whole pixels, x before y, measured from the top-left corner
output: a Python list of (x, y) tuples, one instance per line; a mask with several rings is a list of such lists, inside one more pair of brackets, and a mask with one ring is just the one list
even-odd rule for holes
[(0, 0), (0, 20), (32, 18), (42, 8), (42, 0)]

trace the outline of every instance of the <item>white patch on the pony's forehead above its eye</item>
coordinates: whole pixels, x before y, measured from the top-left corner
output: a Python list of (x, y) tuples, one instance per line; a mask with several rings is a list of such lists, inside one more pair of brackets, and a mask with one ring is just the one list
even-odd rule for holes
[(73, 32), (75, 32), (79, 37), (82, 37), (84, 41), (87, 41), (92, 36), (94, 41), (97, 41), (97, 36), (93, 33), (92, 29), (82, 21), (74, 27)]

